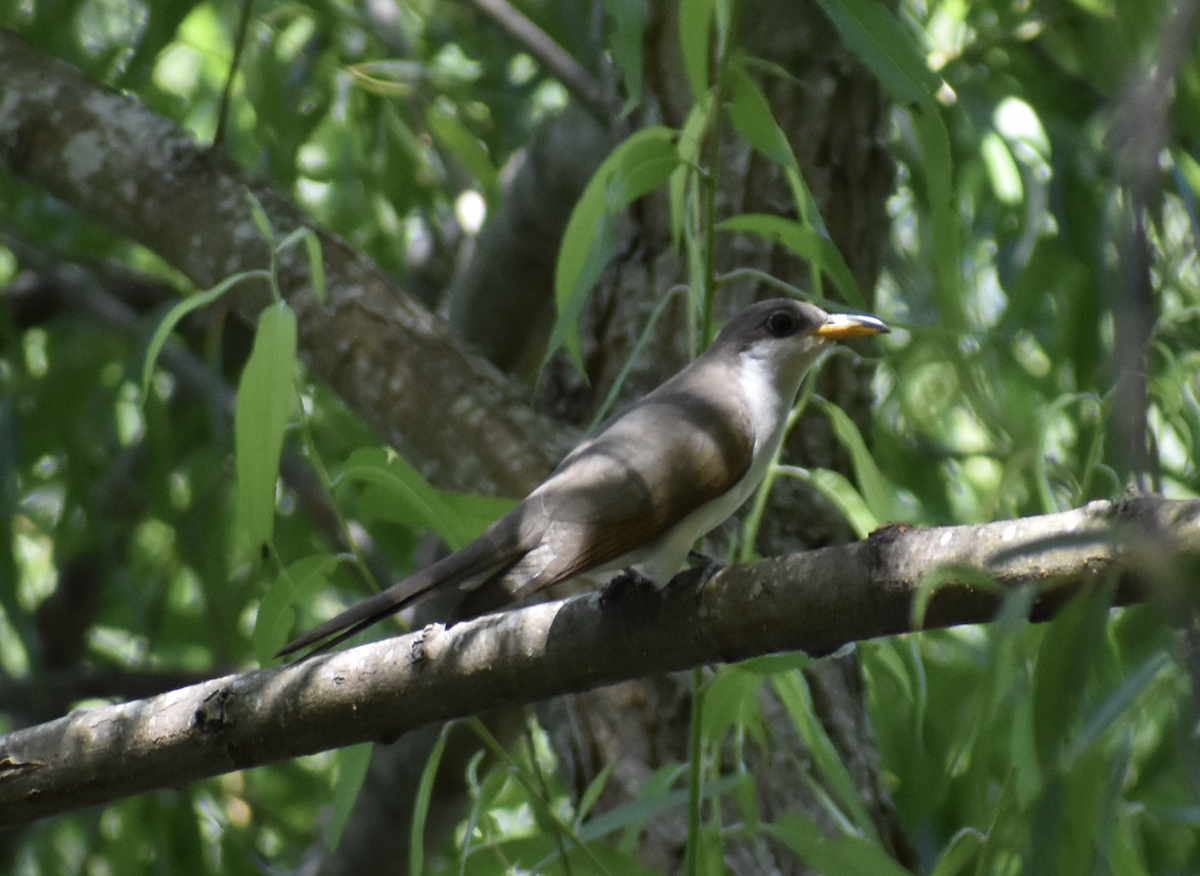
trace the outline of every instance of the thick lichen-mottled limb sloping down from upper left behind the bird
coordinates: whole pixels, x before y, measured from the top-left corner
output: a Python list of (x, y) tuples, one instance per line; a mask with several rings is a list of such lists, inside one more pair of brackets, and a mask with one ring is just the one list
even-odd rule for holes
[[(324, 251), (326, 302), (312, 294), (302, 247), (284, 252), (280, 264), (302, 354), (377, 434), (439, 486), (521, 497), (568, 449), (562, 427), (458, 348), (370, 259), (186, 131), (2, 28), (0, 164), (152, 250), (200, 288), (269, 265), (246, 190), (280, 239), (312, 228)], [(253, 322), (268, 292), (246, 284), (232, 300)]]

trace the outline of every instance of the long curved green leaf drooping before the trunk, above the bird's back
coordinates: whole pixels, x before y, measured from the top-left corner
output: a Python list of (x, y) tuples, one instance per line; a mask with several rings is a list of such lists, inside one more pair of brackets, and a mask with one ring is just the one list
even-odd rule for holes
[(575, 325), (588, 293), (616, 251), (616, 216), (671, 176), (679, 163), (674, 136), (668, 127), (637, 131), (605, 158), (580, 196), (558, 252), (554, 271), (558, 317), (546, 361), (565, 344), (582, 372)]

